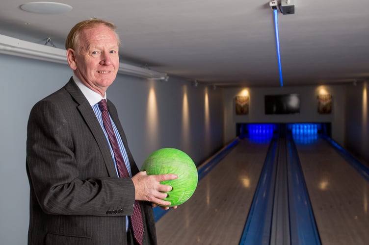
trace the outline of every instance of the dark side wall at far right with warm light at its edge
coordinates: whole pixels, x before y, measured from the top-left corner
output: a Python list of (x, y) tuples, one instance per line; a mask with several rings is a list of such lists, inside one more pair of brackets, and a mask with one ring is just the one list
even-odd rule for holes
[(369, 163), (368, 82), (346, 87), (345, 147)]

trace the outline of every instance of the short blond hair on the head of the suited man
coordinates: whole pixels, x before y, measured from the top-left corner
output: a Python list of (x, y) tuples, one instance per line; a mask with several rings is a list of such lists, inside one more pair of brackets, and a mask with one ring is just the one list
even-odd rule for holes
[(117, 41), (118, 41), (118, 46), (120, 46), (120, 39), (119, 39), (118, 33), (115, 31), (117, 28), (115, 24), (108, 22), (108, 21), (101, 20), (101, 19), (91, 19), (91, 20), (81, 21), (72, 27), (72, 29), (70, 30), (67, 36), (67, 39), (65, 40), (65, 49), (74, 49), (75, 51), (78, 51), (79, 50), (79, 33), (84, 29), (94, 28), (98, 25), (106, 25), (107, 27), (109, 27), (114, 32), (117, 38)]

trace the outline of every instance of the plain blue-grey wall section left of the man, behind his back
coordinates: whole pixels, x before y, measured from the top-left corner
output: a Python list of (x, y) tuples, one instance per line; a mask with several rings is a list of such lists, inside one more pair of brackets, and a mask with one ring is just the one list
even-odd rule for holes
[(25, 245), (29, 217), (26, 124), (32, 105), (61, 87), (67, 66), (0, 54), (0, 241)]

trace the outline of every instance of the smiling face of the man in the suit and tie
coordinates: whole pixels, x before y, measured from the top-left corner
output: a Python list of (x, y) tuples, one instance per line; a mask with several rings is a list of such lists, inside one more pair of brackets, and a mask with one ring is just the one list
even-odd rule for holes
[(68, 49), (70, 67), (90, 89), (105, 95), (118, 69), (118, 41), (105, 25), (84, 29), (79, 33), (79, 50)]

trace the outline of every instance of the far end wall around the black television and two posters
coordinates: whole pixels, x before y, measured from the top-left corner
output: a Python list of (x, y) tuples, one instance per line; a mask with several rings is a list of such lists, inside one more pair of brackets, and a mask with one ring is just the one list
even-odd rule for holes
[[(249, 113), (236, 115), (235, 98), (246, 89), (249, 93)], [(317, 98), (320, 89), (332, 95), (331, 114), (317, 113)], [(332, 123), (332, 138), (340, 145), (344, 142), (344, 86), (301, 86), (275, 88), (230, 88), (224, 90), (224, 139), (229, 141), (236, 136), (236, 123)], [(276, 94), (300, 94), (300, 113), (265, 115), (264, 96)]]

